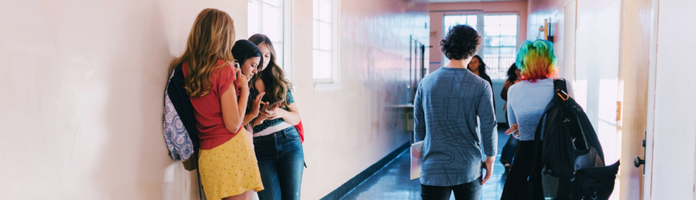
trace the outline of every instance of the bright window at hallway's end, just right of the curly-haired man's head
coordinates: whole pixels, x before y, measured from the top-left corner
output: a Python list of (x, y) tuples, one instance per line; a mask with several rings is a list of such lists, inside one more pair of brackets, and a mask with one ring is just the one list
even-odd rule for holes
[(485, 15), (482, 48), (491, 79), (506, 79), (517, 55), (517, 15)]

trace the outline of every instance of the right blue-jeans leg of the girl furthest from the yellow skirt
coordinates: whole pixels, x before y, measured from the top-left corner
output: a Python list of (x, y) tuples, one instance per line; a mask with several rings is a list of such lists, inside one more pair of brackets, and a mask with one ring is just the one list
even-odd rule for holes
[(283, 200), (300, 200), (302, 172), (304, 170), (302, 143), (300, 139), (288, 139), (283, 143), (278, 162), (281, 197)]

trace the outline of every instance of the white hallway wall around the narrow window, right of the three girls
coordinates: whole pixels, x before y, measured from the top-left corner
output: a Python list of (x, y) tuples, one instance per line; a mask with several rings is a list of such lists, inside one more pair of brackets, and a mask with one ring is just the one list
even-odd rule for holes
[(320, 199), (409, 141), (400, 117), (412, 111), (390, 105), (408, 103), (409, 36), (429, 45), (428, 3), (341, 1), (341, 88), (330, 91), (312, 80), (312, 0), (294, 5), (295, 100), (307, 131), (302, 197)]

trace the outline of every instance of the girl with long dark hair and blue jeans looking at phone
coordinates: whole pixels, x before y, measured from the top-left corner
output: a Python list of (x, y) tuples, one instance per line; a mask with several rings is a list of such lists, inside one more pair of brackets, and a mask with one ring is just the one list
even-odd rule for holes
[(276, 63), (271, 40), (263, 34), (254, 34), (249, 40), (259, 47), (264, 60), (259, 74), (251, 79), (250, 97), (265, 92), (263, 100), (270, 103), (252, 121), (254, 150), (265, 188), (258, 193), (259, 199), (299, 200), (304, 150), (294, 127), (300, 123), (300, 113), (292, 97), (292, 85)]

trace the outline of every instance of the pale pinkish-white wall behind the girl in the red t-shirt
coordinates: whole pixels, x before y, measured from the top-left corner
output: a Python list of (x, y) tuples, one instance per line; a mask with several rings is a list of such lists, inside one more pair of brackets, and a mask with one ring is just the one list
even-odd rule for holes
[(0, 199), (188, 199), (162, 136), (169, 61), (203, 8), (246, 36), (246, 1), (0, 5)]

